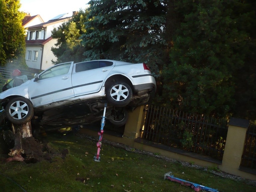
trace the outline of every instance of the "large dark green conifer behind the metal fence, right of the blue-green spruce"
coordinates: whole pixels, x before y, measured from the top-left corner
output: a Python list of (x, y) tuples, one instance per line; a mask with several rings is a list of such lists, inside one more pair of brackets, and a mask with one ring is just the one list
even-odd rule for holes
[(250, 5), (239, 0), (175, 3), (183, 17), (173, 36), (171, 63), (163, 70), (167, 105), (203, 114), (235, 113), (236, 92), (243, 86), (237, 87), (239, 73), (253, 64), (246, 59), (254, 54), (248, 45), (255, 48), (249, 22), (255, 23), (255, 3), (248, 9)]

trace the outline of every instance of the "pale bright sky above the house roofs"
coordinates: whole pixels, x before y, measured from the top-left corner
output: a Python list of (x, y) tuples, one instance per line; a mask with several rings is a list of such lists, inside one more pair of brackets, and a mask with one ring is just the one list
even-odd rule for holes
[(57, 15), (73, 11), (84, 10), (90, 0), (20, 0), (20, 11), (30, 13), (31, 16), (40, 15), (44, 22), (49, 21)]

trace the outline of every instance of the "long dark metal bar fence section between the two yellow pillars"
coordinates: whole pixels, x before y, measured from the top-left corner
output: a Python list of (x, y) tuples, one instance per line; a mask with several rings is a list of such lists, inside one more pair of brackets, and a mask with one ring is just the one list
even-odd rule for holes
[(147, 105), (141, 138), (222, 160), (227, 120)]

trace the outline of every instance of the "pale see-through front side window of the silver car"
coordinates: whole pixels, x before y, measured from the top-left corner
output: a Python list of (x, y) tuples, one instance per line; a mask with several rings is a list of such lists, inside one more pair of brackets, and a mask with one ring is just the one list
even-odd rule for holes
[(39, 80), (56, 77), (59, 75), (65, 75), (69, 72), (70, 66), (71, 66), (71, 62), (68, 62), (68, 63), (63, 63), (62, 65), (57, 65), (50, 69), (47, 69), (45, 72), (43, 72), (39, 76)]

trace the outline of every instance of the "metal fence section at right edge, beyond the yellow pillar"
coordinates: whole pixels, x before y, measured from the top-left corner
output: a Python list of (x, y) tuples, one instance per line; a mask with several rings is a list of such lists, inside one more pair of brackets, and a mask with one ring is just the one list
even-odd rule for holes
[(249, 126), (247, 130), (240, 166), (256, 169), (256, 125)]

